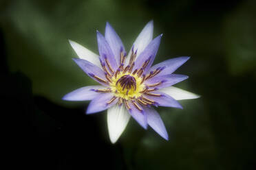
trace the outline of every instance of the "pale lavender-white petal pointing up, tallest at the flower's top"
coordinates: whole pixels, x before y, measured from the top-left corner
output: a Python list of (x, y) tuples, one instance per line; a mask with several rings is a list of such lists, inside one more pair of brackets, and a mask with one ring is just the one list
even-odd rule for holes
[[(134, 42), (134, 49), (137, 51), (137, 56), (140, 55), (140, 53), (149, 45), (149, 42), (151, 42), (153, 38), (153, 21), (149, 21), (147, 25), (142, 29), (142, 32), (138, 35)], [(125, 60), (125, 64), (129, 63), (129, 60), (131, 58), (131, 50), (128, 53), (127, 60)]]

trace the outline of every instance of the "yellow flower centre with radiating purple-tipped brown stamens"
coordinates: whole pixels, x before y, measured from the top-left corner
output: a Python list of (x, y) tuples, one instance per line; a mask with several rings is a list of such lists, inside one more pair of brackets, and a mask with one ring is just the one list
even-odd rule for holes
[(156, 101), (149, 99), (148, 96), (153, 97), (161, 97), (162, 95), (152, 93), (155, 90), (158, 90), (156, 86), (164, 83), (164, 80), (157, 82), (155, 84), (147, 84), (145, 81), (155, 77), (160, 73), (165, 66), (158, 67), (154, 71), (151, 71), (147, 75), (145, 74), (145, 69), (151, 60), (151, 56), (140, 66), (140, 68), (134, 69), (135, 58), (137, 55), (137, 50), (134, 51), (134, 48), (131, 49), (131, 58), (129, 60), (129, 64), (125, 66), (125, 60), (127, 58), (127, 53), (124, 53), (122, 49), (120, 49), (120, 63), (118, 69), (114, 71), (112, 68), (107, 56), (104, 56), (104, 60), (100, 60), (100, 64), (103, 67), (103, 71), (105, 72), (106, 80), (97, 77), (96, 75), (91, 74), (99, 82), (103, 82), (109, 85), (107, 89), (97, 90), (94, 89), (97, 93), (114, 93), (114, 97), (112, 97), (107, 104), (111, 104), (116, 99), (118, 99), (118, 104), (125, 104), (128, 110), (131, 109), (131, 104), (142, 112), (143, 106), (158, 106)]

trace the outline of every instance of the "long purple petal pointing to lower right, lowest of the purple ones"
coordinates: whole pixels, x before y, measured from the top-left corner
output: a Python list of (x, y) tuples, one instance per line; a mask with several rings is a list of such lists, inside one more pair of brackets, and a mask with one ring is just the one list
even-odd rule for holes
[(145, 112), (147, 112), (147, 123), (155, 130), (160, 136), (162, 136), (165, 140), (168, 141), (169, 137), (167, 134), (167, 130), (162, 122), (162, 119), (158, 112), (155, 109), (151, 108), (144, 108)]

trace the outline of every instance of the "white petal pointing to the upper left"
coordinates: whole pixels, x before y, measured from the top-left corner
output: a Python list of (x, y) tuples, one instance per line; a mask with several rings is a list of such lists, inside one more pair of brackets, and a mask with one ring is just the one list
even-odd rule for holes
[(69, 42), (79, 58), (92, 62), (92, 64), (101, 68), (100, 60), (96, 53), (89, 51), (89, 49), (83, 47), (82, 45), (79, 45), (77, 42), (74, 42), (72, 40), (69, 40)]

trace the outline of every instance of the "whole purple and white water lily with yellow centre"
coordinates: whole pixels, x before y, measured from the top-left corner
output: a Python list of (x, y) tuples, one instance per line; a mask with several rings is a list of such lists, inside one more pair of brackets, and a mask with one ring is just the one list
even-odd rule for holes
[(87, 114), (107, 110), (111, 143), (116, 143), (130, 117), (143, 128), (151, 126), (168, 140), (167, 130), (153, 106), (182, 108), (177, 100), (195, 99), (198, 95), (173, 87), (188, 76), (173, 74), (189, 57), (179, 57), (152, 66), (162, 34), (153, 38), (153, 21), (147, 23), (127, 54), (122, 40), (109, 23), (105, 36), (97, 31), (99, 55), (70, 40), (79, 58), (74, 62), (98, 82), (99, 86), (78, 88), (63, 97), (67, 101), (92, 100)]

